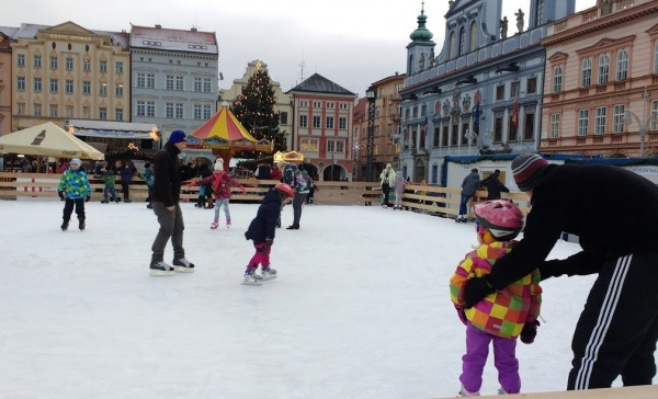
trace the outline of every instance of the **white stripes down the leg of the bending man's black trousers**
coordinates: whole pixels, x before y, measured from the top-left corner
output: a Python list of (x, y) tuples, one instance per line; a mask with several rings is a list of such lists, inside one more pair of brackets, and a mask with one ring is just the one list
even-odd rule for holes
[(608, 286), (608, 293), (605, 293), (605, 297), (603, 298), (603, 305), (601, 306), (599, 319), (597, 320), (597, 324), (592, 330), (590, 341), (587, 344), (580, 363), (580, 369), (576, 376), (576, 383), (574, 387), (576, 390), (589, 388), (592, 369), (594, 368), (594, 363), (597, 363), (597, 358), (599, 357), (599, 350), (601, 349), (603, 341), (605, 341), (605, 334), (608, 333), (608, 329), (612, 322), (612, 316), (614, 315), (614, 310), (620, 300), (620, 295), (622, 294), (622, 287), (624, 286), (624, 280), (628, 273), (628, 266), (631, 265), (632, 258), (633, 254), (629, 254), (617, 260), (610, 285)]

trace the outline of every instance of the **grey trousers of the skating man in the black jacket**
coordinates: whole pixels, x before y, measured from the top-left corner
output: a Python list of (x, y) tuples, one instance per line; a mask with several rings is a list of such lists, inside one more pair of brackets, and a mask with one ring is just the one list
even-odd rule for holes
[(173, 259), (185, 258), (185, 250), (183, 249), (183, 230), (185, 229), (185, 224), (183, 223), (183, 213), (180, 205), (175, 204), (173, 210), (168, 210), (164, 203), (154, 201), (152, 206), (154, 214), (158, 217), (160, 229), (151, 247), (154, 251), (151, 263), (164, 260), (164, 247), (167, 247), (169, 238), (171, 238), (171, 244), (173, 246)]

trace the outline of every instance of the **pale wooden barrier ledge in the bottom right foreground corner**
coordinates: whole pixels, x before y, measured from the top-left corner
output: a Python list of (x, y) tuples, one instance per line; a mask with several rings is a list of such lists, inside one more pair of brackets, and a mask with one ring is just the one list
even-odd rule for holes
[[(525, 399), (656, 399), (658, 398), (658, 385), (645, 385), (640, 387), (624, 388), (602, 388), (589, 390), (568, 390), (563, 392), (517, 394), (513, 397)], [(454, 398), (454, 396), (451, 398)], [(500, 399), (500, 396), (480, 396), (479, 398)]]

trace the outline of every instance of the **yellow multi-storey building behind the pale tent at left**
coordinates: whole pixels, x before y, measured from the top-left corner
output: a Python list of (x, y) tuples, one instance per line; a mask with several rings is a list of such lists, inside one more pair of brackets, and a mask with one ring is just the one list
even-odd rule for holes
[(129, 122), (128, 34), (22, 24), (12, 48), (12, 132), (67, 119)]

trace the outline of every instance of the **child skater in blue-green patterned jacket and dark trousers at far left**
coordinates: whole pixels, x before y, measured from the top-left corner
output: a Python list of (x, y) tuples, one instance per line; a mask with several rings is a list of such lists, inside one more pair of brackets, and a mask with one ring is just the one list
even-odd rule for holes
[(82, 161), (78, 158), (71, 159), (68, 169), (61, 175), (57, 194), (60, 198), (65, 198), (61, 231), (68, 229), (73, 206), (78, 215), (78, 228), (84, 230), (84, 203), (91, 198), (91, 186), (87, 179), (87, 171), (82, 168)]

